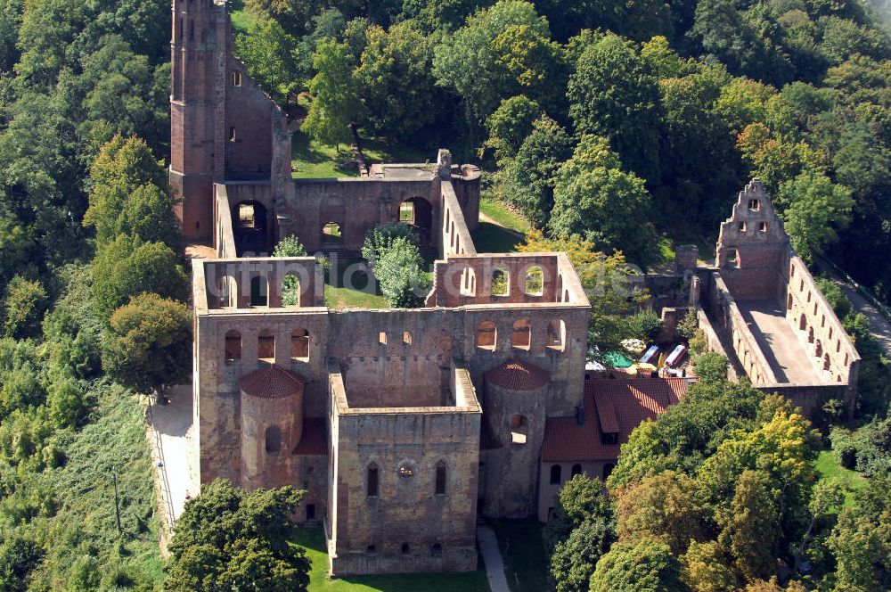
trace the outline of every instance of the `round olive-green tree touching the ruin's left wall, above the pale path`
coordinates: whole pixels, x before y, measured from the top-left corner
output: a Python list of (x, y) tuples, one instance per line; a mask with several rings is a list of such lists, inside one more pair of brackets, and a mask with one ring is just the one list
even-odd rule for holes
[(192, 373), (192, 315), (181, 302), (143, 293), (115, 310), (102, 337), (102, 366), (115, 381), (149, 394)]

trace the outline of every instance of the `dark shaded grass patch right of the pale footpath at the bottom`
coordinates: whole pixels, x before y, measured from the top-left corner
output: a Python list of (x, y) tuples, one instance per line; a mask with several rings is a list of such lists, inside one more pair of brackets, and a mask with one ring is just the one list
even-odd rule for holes
[(547, 553), (539, 522), (495, 522), (495, 536), (504, 558), (512, 592), (543, 592), (548, 583)]

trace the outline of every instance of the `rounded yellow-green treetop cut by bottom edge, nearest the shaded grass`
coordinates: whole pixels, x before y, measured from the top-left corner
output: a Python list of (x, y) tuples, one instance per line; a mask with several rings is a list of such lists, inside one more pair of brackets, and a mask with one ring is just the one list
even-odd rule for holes
[(597, 562), (591, 592), (683, 592), (681, 564), (665, 543), (617, 543)]

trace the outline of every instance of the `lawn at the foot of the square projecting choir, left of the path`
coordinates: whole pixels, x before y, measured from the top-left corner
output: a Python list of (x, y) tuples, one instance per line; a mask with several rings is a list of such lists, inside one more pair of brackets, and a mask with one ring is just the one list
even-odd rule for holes
[(470, 573), (419, 573), (388, 576), (328, 577), (328, 555), (321, 529), (300, 529), (294, 541), (303, 547), (312, 569), (309, 592), (488, 592), (483, 560)]

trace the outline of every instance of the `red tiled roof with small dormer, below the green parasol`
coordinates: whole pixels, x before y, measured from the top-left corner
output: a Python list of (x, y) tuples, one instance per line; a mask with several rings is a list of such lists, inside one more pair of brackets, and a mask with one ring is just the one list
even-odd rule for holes
[[(595, 379), (584, 382), (584, 424), (575, 417), (549, 417), (544, 423), (542, 460), (615, 461), (619, 447), (644, 420), (665, 413), (687, 392), (683, 378)], [(601, 433), (618, 434), (603, 444)]]

